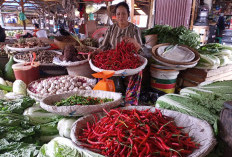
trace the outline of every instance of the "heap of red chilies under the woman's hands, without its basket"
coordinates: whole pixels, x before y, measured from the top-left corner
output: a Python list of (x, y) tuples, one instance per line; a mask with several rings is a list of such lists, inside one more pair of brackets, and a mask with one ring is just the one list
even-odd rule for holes
[(105, 70), (122, 70), (138, 68), (142, 63), (134, 44), (122, 41), (116, 49), (93, 56), (93, 64)]

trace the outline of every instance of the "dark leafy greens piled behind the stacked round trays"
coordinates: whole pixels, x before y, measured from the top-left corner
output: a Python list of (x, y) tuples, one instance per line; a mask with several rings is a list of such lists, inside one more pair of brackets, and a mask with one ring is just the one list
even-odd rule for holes
[(158, 34), (158, 44), (183, 44), (191, 48), (200, 46), (200, 36), (184, 26), (172, 28), (168, 25), (155, 25), (143, 32), (143, 35)]

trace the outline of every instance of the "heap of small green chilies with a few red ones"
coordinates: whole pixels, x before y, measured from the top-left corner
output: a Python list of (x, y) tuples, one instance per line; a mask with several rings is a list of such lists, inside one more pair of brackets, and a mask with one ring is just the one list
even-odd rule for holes
[(67, 99), (62, 99), (61, 101), (56, 102), (55, 106), (97, 105), (110, 101), (113, 101), (113, 99), (108, 99), (108, 98), (101, 99), (101, 98), (73, 95), (68, 97)]

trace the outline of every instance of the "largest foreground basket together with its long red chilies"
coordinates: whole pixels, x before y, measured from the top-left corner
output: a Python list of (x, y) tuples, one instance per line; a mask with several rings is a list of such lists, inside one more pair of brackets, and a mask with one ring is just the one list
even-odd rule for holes
[(73, 124), (71, 139), (90, 156), (115, 157), (203, 157), (216, 144), (206, 121), (148, 106), (82, 117)]

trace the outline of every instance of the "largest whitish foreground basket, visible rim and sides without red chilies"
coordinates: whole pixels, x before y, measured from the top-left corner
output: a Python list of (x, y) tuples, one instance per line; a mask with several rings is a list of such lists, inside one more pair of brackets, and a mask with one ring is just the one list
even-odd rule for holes
[[(126, 110), (146, 110), (150, 109), (151, 112), (155, 112), (155, 107), (151, 106), (130, 106), (130, 107), (124, 107), (121, 109), (126, 109)], [(207, 154), (209, 154), (210, 151), (214, 148), (216, 145), (216, 139), (214, 137), (213, 130), (206, 121), (200, 120), (198, 118), (176, 112), (176, 111), (171, 111), (171, 110), (166, 110), (166, 109), (160, 109), (163, 115), (169, 116), (171, 118), (174, 118), (176, 125), (185, 127), (183, 129), (184, 132), (189, 132), (189, 136), (193, 137), (195, 142), (200, 143), (199, 149), (196, 149), (193, 151), (192, 154), (190, 154), (188, 157), (205, 157)], [(102, 118), (105, 115), (105, 113), (98, 113), (95, 114), (95, 116), (99, 118)], [(90, 149), (87, 149), (86, 147), (83, 146), (83, 144), (86, 145), (86, 143), (82, 143), (78, 140), (79, 134), (82, 132), (82, 129), (86, 128), (87, 122), (92, 124), (94, 122), (94, 116), (93, 115), (87, 115), (85, 117), (82, 117), (78, 119), (73, 125), (71, 129), (71, 139), (72, 141), (77, 145), (78, 148), (81, 148), (90, 156), (101, 156), (103, 155), (98, 154), (97, 152), (94, 152)]]

